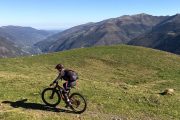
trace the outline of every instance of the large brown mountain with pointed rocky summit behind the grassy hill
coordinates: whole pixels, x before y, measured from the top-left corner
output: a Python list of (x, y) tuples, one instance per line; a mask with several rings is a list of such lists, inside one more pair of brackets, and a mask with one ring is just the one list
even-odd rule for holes
[(126, 44), (167, 18), (168, 16), (147, 14), (125, 15), (70, 28), (35, 46), (43, 52), (54, 52), (97, 45)]

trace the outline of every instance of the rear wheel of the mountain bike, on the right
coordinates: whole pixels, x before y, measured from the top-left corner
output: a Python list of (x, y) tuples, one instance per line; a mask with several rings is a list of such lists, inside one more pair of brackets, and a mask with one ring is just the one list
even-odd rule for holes
[(73, 93), (71, 94), (71, 96), (69, 97), (72, 106), (71, 109), (75, 112), (75, 113), (83, 113), (86, 110), (87, 107), (87, 102), (84, 99), (84, 97), (79, 94), (79, 93)]

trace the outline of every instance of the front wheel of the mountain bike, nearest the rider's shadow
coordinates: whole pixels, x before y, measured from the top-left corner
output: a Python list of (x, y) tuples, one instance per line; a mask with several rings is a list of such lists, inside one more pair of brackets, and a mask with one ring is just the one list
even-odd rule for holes
[(57, 106), (61, 101), (59, 92), (54, 88), (44, 89), (41, 97), (43, 102), (51, 107)]

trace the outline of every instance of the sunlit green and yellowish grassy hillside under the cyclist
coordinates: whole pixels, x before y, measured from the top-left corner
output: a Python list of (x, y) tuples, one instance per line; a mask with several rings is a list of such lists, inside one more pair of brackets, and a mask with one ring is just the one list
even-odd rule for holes
[[(41, 110), (40, 94), (63, 63), (79, 73), (88, 100), (81, 115)], [(52, 69), (52, 70), (50, 70)], [(34, 57), (0, 59), (0, 102), (28, 99), (17, 108), (0, 104), (0, 119), (180, 119), (180, 57), (152, 49), (111, 46)], [(161, 96), (165, 88), (175, 95)], [(33, 105), (31, 103), (34, 103)], [(34, 106), (34, 107), (33, 107)], [(65, 109), (61, 103), (58, 108)]]

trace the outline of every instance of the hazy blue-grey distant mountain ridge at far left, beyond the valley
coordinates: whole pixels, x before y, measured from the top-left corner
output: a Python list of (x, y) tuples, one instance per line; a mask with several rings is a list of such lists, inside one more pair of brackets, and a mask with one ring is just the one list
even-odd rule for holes
[(37, 30), (31, 27), (21, 26), (4, 26), (0, 27), (0, 36), (8, 38), (10, 41), (26, 46), (32, 46), (33, 44), (44, 40), (53, 32), (45, 30)]

